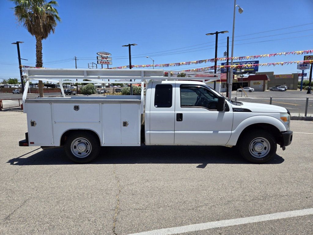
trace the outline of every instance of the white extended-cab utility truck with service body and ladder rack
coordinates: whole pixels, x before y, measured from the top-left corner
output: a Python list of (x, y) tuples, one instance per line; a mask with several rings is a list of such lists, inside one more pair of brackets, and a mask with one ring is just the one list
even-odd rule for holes
[[(237, 146), (242, 156), (254, 163), (272, 159), (277, 144), (285, 150), (292, 140), (289, 111), (227, 100), (207, 85), (219, 79), (219, 74), (213, 75), (216, 77), (202, 82), (195, 81), (199, 80), (196, 77), (174, 77), (164, 70), (25, 69), (23, 106), (28, 133), (19, 146), (64, 146), (66, 155), (77, 163), (95, 159), (101, 146)], [(83, 79), (90, 80), (85, 83), (109, 83), (108, 79), (141, 83), (141, 95), (65, 98), (64, 79), (73, 83)], [(59, 82), (63, 97), (26, 99), (31, 80)]]

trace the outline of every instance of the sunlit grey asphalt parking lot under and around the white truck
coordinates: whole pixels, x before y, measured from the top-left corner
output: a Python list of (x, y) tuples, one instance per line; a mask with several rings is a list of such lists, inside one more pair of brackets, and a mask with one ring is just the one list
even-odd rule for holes
[[(312, 234), (313, 122), (291, 121), (292, 144), (262, 165), (219, 146), (106, 147), (77, 165), (62, 149), (18, 147), (26, 114), (0, 121), (1, 234)], [(279, 212), (291, 216), (228, 223)]]

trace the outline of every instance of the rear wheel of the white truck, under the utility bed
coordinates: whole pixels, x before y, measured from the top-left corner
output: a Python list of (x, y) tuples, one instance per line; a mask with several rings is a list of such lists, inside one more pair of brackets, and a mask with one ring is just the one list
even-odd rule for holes
[(64, 151), (76, 163), (87, 163), (100, 153), (100, 143), (95, 135), (88, 132), (74, 132), (65, 141)]

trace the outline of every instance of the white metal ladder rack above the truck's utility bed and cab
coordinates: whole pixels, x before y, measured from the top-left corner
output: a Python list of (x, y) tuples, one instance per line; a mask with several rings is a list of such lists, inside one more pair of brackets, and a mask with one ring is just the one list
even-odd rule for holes
[[(165, 77), (164, 72), (168, 75)], [(64, 89), (62, 85), (62, 79), (66, 79), (66, 82), (71, 83), (110, 83), (110, 79), (126, 79), (126, 80), (140, 80), (141, 87), (148, 80), (202, 80), (204, 82), (204, 76), (201, 77), (172, 77), (173, 73), (185, 73), (185, 74), (200, 74), (200, 75), (210, 75), (208, 78), (210, 80), (205, 81), (206, 83), (211, 81), (220, 80), (220, 74), (214, 73), (204, 73), (204, 72), (187, 72), (187, 71), (175, 71), (175, 70), (124, 70), (124, 69), (33, 69), (27, 68), (24, 70), (24, 75), (22, 78), (25, 79), (25, 88), (23, 93), (23, 103), (27, 97), (27, 90), (29, 87), (29, 82), (31, 80), (40, 81), (50, 81), (59, 82), (62, 97), (65, 97)], [(216, 77), (212, 77), (216, 76)], [(83, 81), (83, 79), (88, 79), (90, 81)], [(114, 81), (114, 83), (121, 84), (138, 84), (138, 81)], [(143, 96), (143, 89), (141, 91), (141, 96)]]

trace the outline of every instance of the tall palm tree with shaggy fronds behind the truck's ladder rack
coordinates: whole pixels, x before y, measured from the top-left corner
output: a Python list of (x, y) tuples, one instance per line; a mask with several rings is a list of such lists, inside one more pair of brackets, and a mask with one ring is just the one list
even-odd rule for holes
[[(46, 0), (11, 0), (15, 3), (14, 15), (18, 22), (36, 38), (36, 67), (43, 67), (42, 40), (54, 33), (57, 22), (61, 22), (56, 1)], [(44, 97), (43, 83), (39, 81), (39, 96)]]

